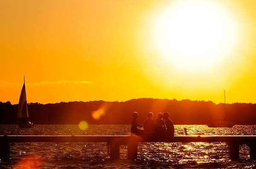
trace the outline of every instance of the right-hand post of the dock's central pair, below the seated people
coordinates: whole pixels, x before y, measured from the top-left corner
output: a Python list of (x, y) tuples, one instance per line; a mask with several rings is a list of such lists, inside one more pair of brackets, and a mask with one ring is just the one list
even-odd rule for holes
[(137, 159), (139, 142), (136, 138), (131, 137), (127, 145), (127, 158), (129, 160)]

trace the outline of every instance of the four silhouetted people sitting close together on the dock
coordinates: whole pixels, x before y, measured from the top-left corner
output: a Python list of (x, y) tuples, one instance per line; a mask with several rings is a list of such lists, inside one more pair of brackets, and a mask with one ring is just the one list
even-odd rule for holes
[[(169, 118), (169, 113), (158, 113), (157, 119), (153, 120), (153, 113), (148, 113), (148, 119), (143, 124), (137, 123), (139, 115), (137, 112), (132, 113), (131, 135), (148, 135), (148, 136), (174, 136), (174, 125)], [(164, 119), (164, 121), (163, 121)], [(143, 127), (139, 129), (138, 127)]]

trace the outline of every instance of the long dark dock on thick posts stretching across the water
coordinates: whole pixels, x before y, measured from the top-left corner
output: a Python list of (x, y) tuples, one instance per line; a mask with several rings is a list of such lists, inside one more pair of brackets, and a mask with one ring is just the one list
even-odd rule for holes
[(254, 135), (177, 135), (167, 138), (130, 135), (0, 135), (0, 159), (10, 159), (9, 143), (14, 142), (106, 142), (111, 159), (119, 158), (120, 145), (127, 145), (128, 159), (136, 159), (140, 142), (225, 142), (229, 146), (230, 159), (238, 159), (239, 145), (246, 144), (250, 147), (250, 160), (256, 160)]

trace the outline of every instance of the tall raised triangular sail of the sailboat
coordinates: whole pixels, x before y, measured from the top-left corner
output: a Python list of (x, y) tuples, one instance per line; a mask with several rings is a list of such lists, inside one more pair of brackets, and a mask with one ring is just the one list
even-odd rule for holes
[(26, 101), (26, 89), (25, 89), (25, 82), (23, 84), (21, 93), (20, 93), (20, 100), (18, 104), (18, 118), (27, 118), (29, 117), (28, 107), (27, 107), (27, 101)]

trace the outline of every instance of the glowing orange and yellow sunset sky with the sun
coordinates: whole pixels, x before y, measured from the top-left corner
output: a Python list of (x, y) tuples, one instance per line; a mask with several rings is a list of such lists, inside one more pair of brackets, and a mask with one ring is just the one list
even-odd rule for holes
[(256, 103), (255, 0), (1, 0), (0, 101)]

